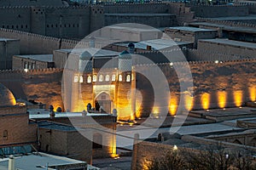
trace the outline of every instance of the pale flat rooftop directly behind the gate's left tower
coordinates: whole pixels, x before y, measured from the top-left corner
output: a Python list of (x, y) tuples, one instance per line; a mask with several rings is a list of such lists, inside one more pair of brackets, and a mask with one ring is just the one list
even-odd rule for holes
[(72, 54), (83, 54), (84, 52), (88, 52), (90, 56), (93, 57), (108, 57), (108, 56), (118, 56), (119, 53), (107, 49), (100, 48), (73, 48), (73, 49), (58, 49), (55, 50), (63, 53), (72, 53)]

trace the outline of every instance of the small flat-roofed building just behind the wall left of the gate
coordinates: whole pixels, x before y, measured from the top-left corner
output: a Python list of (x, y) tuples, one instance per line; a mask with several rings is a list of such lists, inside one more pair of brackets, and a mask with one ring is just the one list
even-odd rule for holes
[(53, 68), (52, 54), (14, 55), (13, 69), (46, 69)]

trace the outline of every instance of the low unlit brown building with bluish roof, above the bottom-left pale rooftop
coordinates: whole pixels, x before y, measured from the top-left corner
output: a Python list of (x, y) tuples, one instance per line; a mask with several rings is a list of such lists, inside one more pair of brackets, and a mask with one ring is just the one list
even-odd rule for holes
[(92, 142), (70, 125), (38, 122), (38, 149), (58, 156), (91, 162)]

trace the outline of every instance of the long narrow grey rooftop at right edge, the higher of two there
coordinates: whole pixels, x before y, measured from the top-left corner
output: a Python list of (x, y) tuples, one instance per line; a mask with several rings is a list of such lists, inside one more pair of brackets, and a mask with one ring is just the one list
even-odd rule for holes
[(221, 24), (213, 24), (210, 22), (192, 22), (189, 23), (189, 26), (211, 26), (216, 27), (216, 30), (218, 27), (222, 28), (224, 31), (237, 31), (237, 32), (246, 32), (246, 33), (256, 33), (255, 28), (250, 27), (242, 27), (242, 26), (224, 26)]

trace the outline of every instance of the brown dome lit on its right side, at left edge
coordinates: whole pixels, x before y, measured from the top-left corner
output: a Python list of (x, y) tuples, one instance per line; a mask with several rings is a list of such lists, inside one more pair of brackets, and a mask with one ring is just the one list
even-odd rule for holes
[(0, 106), (16, 105), (16, 99), (14, 94), (9, 91), (8, 88), (0, 83)]

